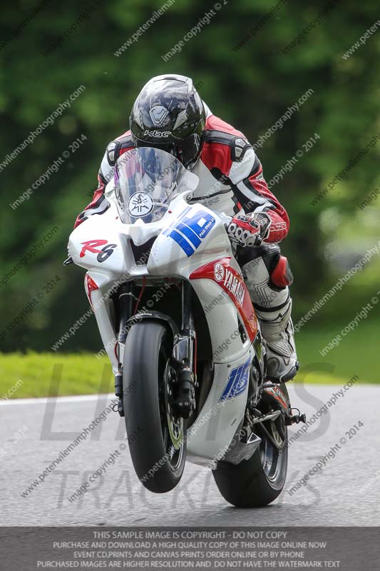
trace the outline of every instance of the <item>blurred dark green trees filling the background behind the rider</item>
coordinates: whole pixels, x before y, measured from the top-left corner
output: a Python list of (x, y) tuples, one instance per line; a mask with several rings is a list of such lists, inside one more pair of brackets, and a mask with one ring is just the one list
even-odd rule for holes
[[(91, 200), (106, 145), (127, 130), (133, 101), (151, 76), (168, 72), (191, 76), (213, 113), (242, 130), (252, 144), (302, 94), (314, 90), (299, 111), (257, 151), (269, 181), (314, 133), (320, 136), (272, 188), (291, 220), (282, 251), (294, 273), (294, 321), (378, 243), (380, 201), (376, 195), (366, 208), (359, 208), (359, 204), (380, 186), (379, 144), (332, 191), (312, 204), (348, 161), (380, 134), (379, 33), (371, 34), (348, 59), (342, 58), (378, 20), (378, 2), (332, 0), (327, 3), (329, 13), (320, 17), (287, 54), (282, 51), (285, 46), (327, 4), (294, 0), (273, 9), (276, 3), (272, 0), (224, 2), (210, 24), (202, 26), (200, 33), (185, 42), (182, 51), (168, 62), (161, 56), (213, 9), (214, 2), (175, 0), (120, 56), (115, 56), (115, 51), (163, 5), (161, 0), (89, 4), (73, 0), (35, 4), (25, 0), (3, 4), (0, 163), (59, 103), (79, 86), (86, 88), (53, 125), (0, 172), (0, 283), (34, 243), (58, 227), (43, 251), (9, 283), (0, 285), (0, 330), (19, 315), (43, 285), (54, 276), (60, 278), (19, 326), (6, 333), (0, 343), (4, 353), (50, 350), (88, 309), (83, 271), (62, 266), (66, 243), (78, 212)], [(43, 55), (68, 29), (71, 32), (61, 45)], [(82, 134), (86, 141), (80, 148), (29, 200), (13, 210), (10, 203)], [(304, 340), (309, 345), (320, 342), (314, 347), (316, 360), (318, 349), (327, 345), (380, 289), (379, 268), (379, 256), (373, 256), (304, 325), (297, 339), (301, 345)], [(345, 340), (340, 359), (354, 363), (359, 355), (355, 356), (352, 348), (361, 358), (364, 355), (364, 360), (374, 359), (378, 322), (379, 310), (374, 308), (351, 333), (351, 341)], [(96, 323), (91, 318), (61, 351), (93, 352), (100, 348)], [(314, 358), (311, 349), (304, 351), (307, 360)], [(352, 374), (356, 372), (352, 370)], [(369, 376), (377, 380), (373, 371)]]

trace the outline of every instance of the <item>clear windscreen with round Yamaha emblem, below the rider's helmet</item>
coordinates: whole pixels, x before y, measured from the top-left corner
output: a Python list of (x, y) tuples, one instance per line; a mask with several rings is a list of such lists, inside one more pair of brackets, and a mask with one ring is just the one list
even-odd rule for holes
[(151, 147), (127, 151), (115, 164), (115, 196), (121, 221), (160, 220), (170, 201), (178, 193), (192, 193), (197, 181), (195, 174), (165, 151)]

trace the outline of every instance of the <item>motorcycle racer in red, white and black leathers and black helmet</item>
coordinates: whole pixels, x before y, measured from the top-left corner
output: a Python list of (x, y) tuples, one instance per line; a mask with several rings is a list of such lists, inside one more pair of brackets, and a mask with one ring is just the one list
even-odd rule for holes
[(278, 246), (289, 230), (287, 212), (269, 191), (247, 138), (212, 114), (190, 78), (165, 74), (143, 87), (130, 113), (130, 130), (108, 144), (98, 188), (75, 227), (108, 209), (104, 190), (115, 162), (140, 146), (173, 154), (198, 176), (191, 202), (232, 216), (227, 233), (236, 245), (236, 258), (266, 340), (267, 378), (276, 383), (291, 380), (299, 368), (289, 295), (293, 278)]

